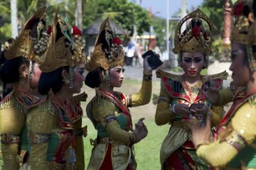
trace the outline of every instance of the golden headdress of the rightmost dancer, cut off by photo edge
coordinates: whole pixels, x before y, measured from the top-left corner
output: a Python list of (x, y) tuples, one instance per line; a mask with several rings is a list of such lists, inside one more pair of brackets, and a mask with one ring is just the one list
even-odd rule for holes
[(233, 7), (234, 25), (231, 42), (245, 44), (247, 60), (251, 70), (256, 70), (256, 23), (254, 22), (252, 1), (240, 0)]

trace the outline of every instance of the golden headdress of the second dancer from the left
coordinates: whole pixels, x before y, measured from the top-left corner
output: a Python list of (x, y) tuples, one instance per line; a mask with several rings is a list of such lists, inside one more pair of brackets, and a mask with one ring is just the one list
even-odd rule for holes
[(36, 58), (43, 72), (51, 72), (62, 66), (74, 67), (84, 63), (84, 50), (81, 43), (81, 31), (72, 27), (68, 20), (55, 13), (52, 34), (44, 58)]

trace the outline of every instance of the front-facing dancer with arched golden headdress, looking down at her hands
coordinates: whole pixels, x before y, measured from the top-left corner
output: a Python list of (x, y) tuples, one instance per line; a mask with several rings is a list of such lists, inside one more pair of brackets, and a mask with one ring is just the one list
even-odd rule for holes
[[(181, 33), (183, 23), (191, 19), (186, 30)], [(210, 33), (204, 30), (203, 20), (209, 26)], [(193, 113), (197, 121), (203, 121), (208, 110), (212, 111), (212, 123), (217, 125), (223, 115), (223, 107), (211, 106), (201, 92), (209, 86), (209, 80), (220, 89), (227, 77), (226, 71), (212, 76), (201, 76), (200, 72), (208, 65), (211, 50), (212, 23), (199, 9), (188, 14), (178, 24), (173, 52), (178, 54), (178, 63), (184, 70), (183, 75), (174, 75), (157, 71), (161, 78), (159, 98), (155, 99), (157, 125), (170, 124), (160, 150), (162, 169), (207, 169), (208, 165), (196, 156), (196, 149), (191, 141), (189, 114)], [(195, 104), (202, 105), (195, 105)], [(190, 106), (194, 104), (194, 108)]]

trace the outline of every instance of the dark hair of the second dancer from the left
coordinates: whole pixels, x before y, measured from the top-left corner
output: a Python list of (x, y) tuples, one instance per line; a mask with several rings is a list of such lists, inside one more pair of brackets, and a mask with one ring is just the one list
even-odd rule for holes
[(61, 73), (64, 69), (69, 71), (68, 66), (63, 66), (51, 72), (42, 72), (38, 82), (38, 92), (41, 95), (48, 94), (50, 89), (52, 89), (54, 93), (58, 92), (63, 85)]

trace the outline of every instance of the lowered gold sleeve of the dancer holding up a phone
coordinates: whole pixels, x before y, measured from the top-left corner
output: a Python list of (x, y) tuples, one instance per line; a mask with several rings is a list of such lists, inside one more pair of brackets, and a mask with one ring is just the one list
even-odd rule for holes
[(101, 99), (99, 105), (92, 108), (92, 112), (94, 119), (102, 123), (106, 132), (108, 132), (113, 140), (124, 144), (131, 144), (130, 133), (122, 130), (118, 124), (115, 116), (118, 109), (111, 101), (104, 98)]

